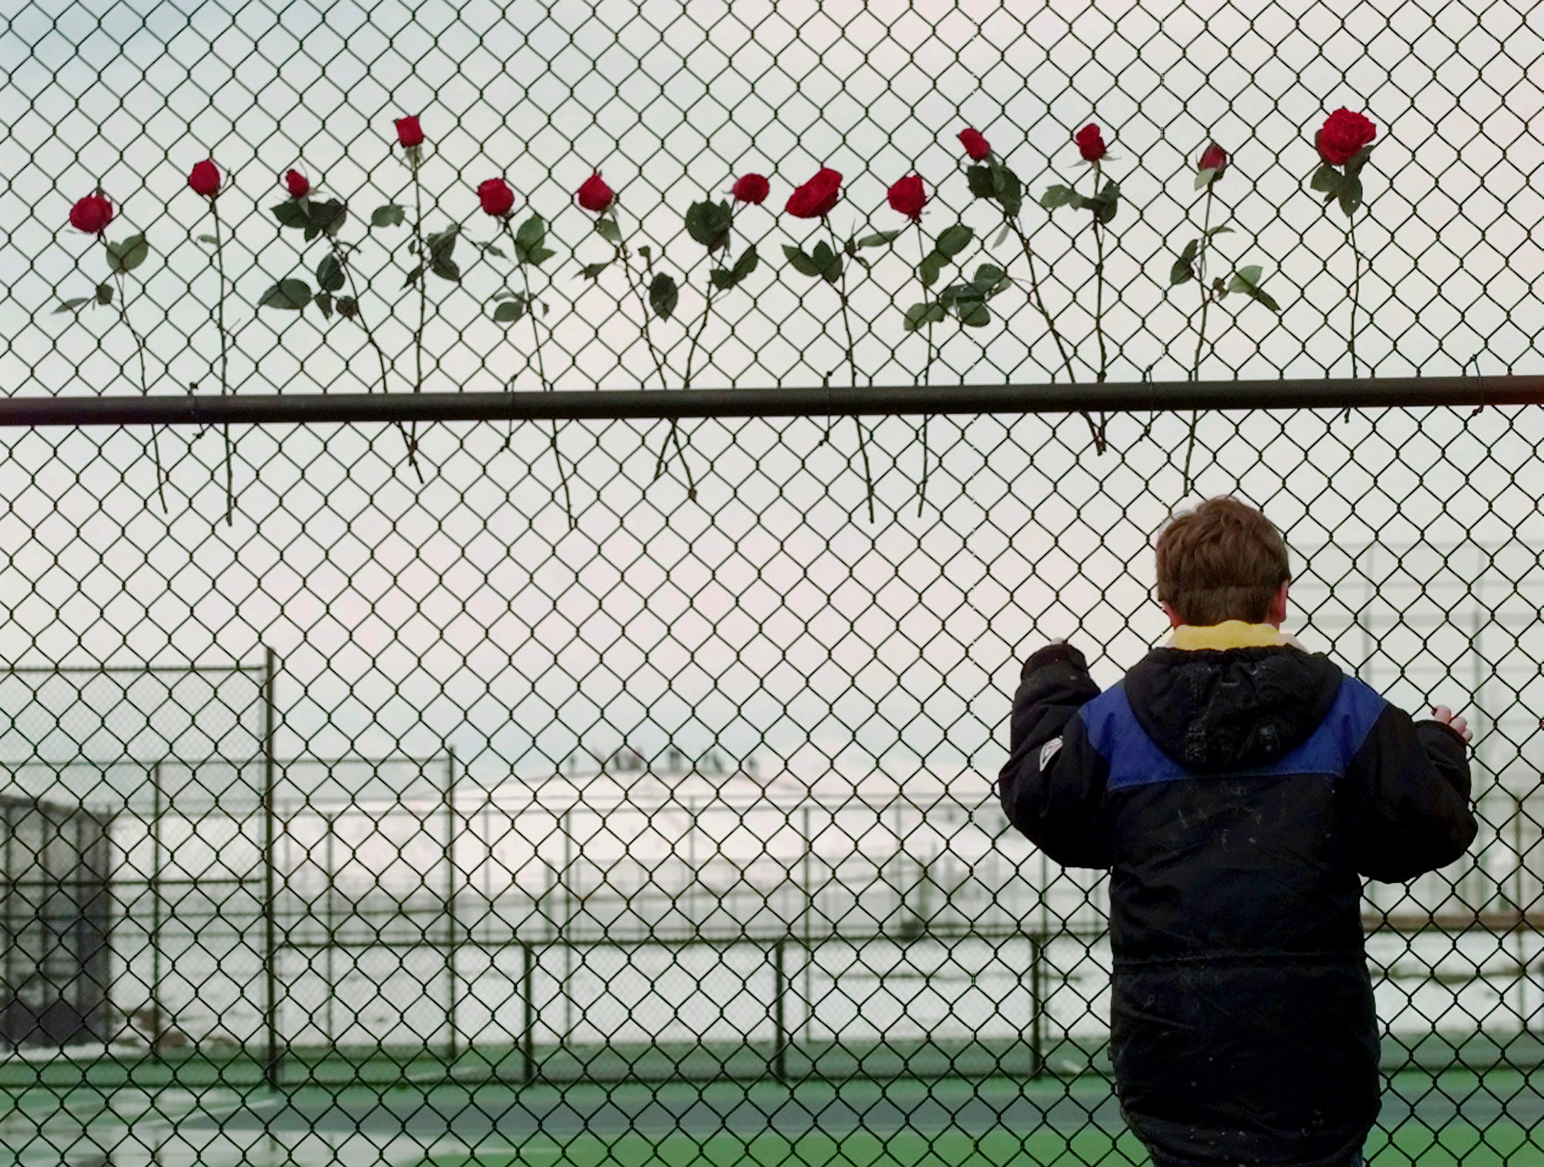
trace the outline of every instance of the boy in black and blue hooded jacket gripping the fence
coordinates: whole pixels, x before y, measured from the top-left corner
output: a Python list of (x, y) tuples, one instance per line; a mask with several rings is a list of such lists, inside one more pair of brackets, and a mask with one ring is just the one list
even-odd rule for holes
[(1359, 875), (1475, 840), (1467, 742), (1280, 631), (1286, 543), (1210, 499), (1158, 537), (1173, 627), (1104, 693), (1065, 642), (1013, 701), (1004, 810), (1110, 871), (1110, 1057), (1155, 1167), (1354, 1167), (1379, 1111)]

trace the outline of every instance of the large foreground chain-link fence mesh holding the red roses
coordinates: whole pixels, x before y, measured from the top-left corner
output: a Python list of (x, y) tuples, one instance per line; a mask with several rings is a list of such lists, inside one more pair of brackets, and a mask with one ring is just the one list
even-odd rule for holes
[[(1115, 381), (1197, 353), (1203, 378), (1356, 372), (1345, 222), (1306, 190), (1340, 105), (1380, 133), (1362, 369), (1539, 372), (1539, 52), (1507, 3), (28, 3), (0, 17), (0, 386), (679, 387), (689, 353), (695, 386), (1050, 380), (965, 125), (1030, 187), (1079, 380), (1096, 303)], [(497, 245), (476, 187), (500, 173), (516, 221), (548, 221), (539, 332), (494, 320), (503, 258), (463, 242), (459, 279), (405, 287), (412, 216), (366, 225), (414, 205), (409, 113), (425, 232)], [(1102, 301), (1085, 224), (1033, 202), (1085, 185), (1089, 119), (1126, 199)], [(1220, 255), (1265, 264), (1282, 313), (1224, 301), (1198, 349), (1169, 269), (1207, 137), (1234, 154)], [(187, 190), (207, 156), (224, 276)], [(920, 173), (928, 241), (965, 222), (960, 266), (1021, 281), (993, 323), (905, 332), (909, 230), (849, 272), (846, 320), (786, 267), (812, 236), (778, 208), (828, 162), (841, 235), (902, 225), (885, 190)], [(355, 318), (256, 307), (335, 252), (269, 213), (289, 167), (349, 204)], [(611, 253), (573, 205), (593, 168), (635, 272), (648, 245), (678, 278), (670, 320), (619, 262), (581, 273)], [(735, 253), (763, 262), (706, 312), (682, 211), (746, 171), (772, 198)], [(63, 225), (99, 184), (108, 238), (150, 258), (108, 309), (54, 313), (103, 278)], [(422, 477), (389, 426), (238, 426), (229, 525), (219, 431), (6, 431), (3, 1153), (1141, 1162), (1107, 1077), (1104, 881), (1007, 832), (991, 778), (1024, 655), (1070, 636), (1113, 682), (1164, 631), (1153, 533), (1234, 491), (1288, 534), (1309, 648), (1476, 726), (1471, 854), (1365, 898), (1370, 1158), (1544, 1161), (1544, 421), (1203, 415), (1194, 489), (1187, 423), (1121, 414), (1095, 454), (1076, 417), (934, 415), (926, 445), (900, 415), (692, 420), (664, 479), (648, 421), (432, 425)]]

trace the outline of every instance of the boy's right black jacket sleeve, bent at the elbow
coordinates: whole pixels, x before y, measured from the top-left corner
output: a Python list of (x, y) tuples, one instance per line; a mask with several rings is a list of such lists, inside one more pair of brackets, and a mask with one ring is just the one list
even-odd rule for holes
[(1405, 883), (1458, 860), (1479, 830), (1468, 742), (1383, 705), (1346, 767), (1346, 838), (1359, 875)]

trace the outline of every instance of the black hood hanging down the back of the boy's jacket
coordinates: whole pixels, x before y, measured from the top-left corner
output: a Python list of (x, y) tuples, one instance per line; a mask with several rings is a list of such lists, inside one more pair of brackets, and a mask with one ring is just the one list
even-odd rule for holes
[(1343, 673), (1291, 645), (1155, 648), (1126, 676), (1147, 736), (1200, 773), (1268, 766), (1325, 719)]

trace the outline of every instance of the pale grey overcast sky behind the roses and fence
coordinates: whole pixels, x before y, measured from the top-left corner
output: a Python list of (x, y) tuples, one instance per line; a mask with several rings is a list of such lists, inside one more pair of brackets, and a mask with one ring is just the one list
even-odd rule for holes
[[(1220, 253), (1263, 264), (1283, 313), (1226, 301), (1203, 375), (1346, 375), (1343, 219), (1306, 190), (1312, 131), (1340, 105), (1366, 110), (1380, 140), (1371, 213), (1357, 222), (1373, 258), (1359, 352), (1385, 375), (1538, 372), (1539, 52), (1527, 8), (1431, 0), (1349, 12), (1308, 0), (28, 3), (0, 19), (0, 386), (141, 391), (113, 313), (52, 315), (105, 272), (100, 245), (65, 225), (102, 182), (120, 205), (110, 238), (145, 230), (153, 247), (130, 306), (151, 392), (218, 391), (219, 284), (195, 239), (210, 219), (185, 188), (188, 167), (213, 154), (235, 184), (219, 202), (235, 225), (232, 389), (378, 387), (355, 326), (252, 307), (323, 255), (318, 244), (298, 255), (264, 210), (298, 165), (349, 201), (366, 320), (392, 355), (391, 389), (411, 391), (408, 228), (364, 228), (375, 205), (411, 199), (392, 156), (405, 113), (422, 114), (432, 147), (431, 228), (462, 219), (469, 238), (493, 239), (474, 188), (500, 173), (517, 216), (551, 219), (559, 256), (537, 293), (562, 387), (658, 386), (619, 272), (596, 284), (577, 275), (607, 250), (571, 198), (591, 168), (622, 193), (633, 244), (647, 239), (686, 282), (684, 321), (701, 310), (706, 264), (681, 213), (735, 173), (772, 174), (766, 207), (736, 218), (736, 250), (757, 241), (763, 267), (715, 303), (695, 384), (818, 384), (840, 364), (841, 321), (835, 295), (781, 261), (783, 242), (812, 232), (781, 215), (792, 184), (834, 165), (848, 178), (838, 230), (888, 228), (900, 218), (885, 188), (916, 170), (936, 194), (928, 233), (971, 224), (977, 242), (962, 259), (996, 258), (1022, 279), (1022, 255), (991, 247), (991, 208), (968, 199), (956, 133), (980, 128), (1034, 196), (1055, 181), (1087, 190), (1070, 131), (1090, 117), (1110, 133), (1109, 174), (1129, 199), (1107, 266), (1110, 377), (1186, 374), (1195, 286), (1169, 292), (1167, 270), (1200, 222), (1190, 171), (1207, 136), (1234, 153), (1217, 190), (1237, 233), (1220, 236)], [(1028, 202), (1024, 221), (1089, 377), (1092, 241), (1067, 210)], [(854, 290), (865, 380), (920, 377), (926, 343), (900, 329), (917, 245), (902, 236)], [(459, 287), (431, 284), (425, 391), (537, 387), (528, 321), (506, 330), (488, 316), (505, 269), (469, 249), (460, 258)], [(1055, 347), (1022, 289), (994, 309), (1007, 324), (937, 329), (936, 381), (1051, 377)], [(678, 384), (686, 326), (655, 333)], [(872, 526), (851, 420), (829, 443), (823, 420), (689, 425), (696, 503), (679, 463), (650, 485), (662, 428), (568, 425), (574, 533), (536, 428), (508, 449), (497, 426), (429, 429), (425, 485), (389, 428), (238, 429), (229, 528), (218, 434), (159, 437), (171, 474), (162, 512), (148, 432), (11, 432), (0, 435), (0, 645), (12, 664), (258, 664), (269, 645), (281, 659), (279, 753), (451, 742), (485, 786), (624, 739), (645, 753), (667, 741), (692, 756), (712, 744), (760, 753), (769, 772), (804, 781), (835, 756), (857, 775), (993, 773), (1025, 650), (1073, 636), (1109, 682), (1163, 633), (1147, 548), (1184, 497), (1186, 431), (1178, 417), (1147, 423), (1112, 418), (1112, 452), (1096, 457), (1076, 417), (934, 418), (942, 462), (917, 517), (917, 421), (879, 421)], [(1495, 716), (1516, 722), (1498, 756), (1527, 755), (1544, 659), (1527, 550), (1544, 539), (1536, 412), (1231, 414), (1204, 418), (1201, 440), (1192, 497), (1238, 491), (1288, 529), (1311, 647), (1365, 665), (1411, 705), (1464, 704), (1481, 661), (1496, 678)], [(1359, 560), (1370, 542), (1462, 553), (1444, 574), (1441, 554), (1417, 548), (1399, 571), (1391, 554), (1377, 568)], [(1356, 617), (1374, 587), (1391, 627), (1370, 650)], [(1464, 633), (1475, 613), (1495, 625), (1478, 656)], [(244, 695), (219, 690), (190, 718), (145, 712), (161, 701), (141, 693), (113, 705), (127, 721), (108, 738), (100, 701), (69, 705), (85, 729), (65, 736), (49, 736), (65, 696), (8, 704), (5, 756), (37, 742), (54, 759), (250, 750), (256, 715), (241, 684)], [(90, 750), (73, 744), (86, 738)]]

